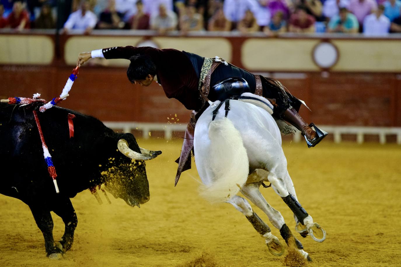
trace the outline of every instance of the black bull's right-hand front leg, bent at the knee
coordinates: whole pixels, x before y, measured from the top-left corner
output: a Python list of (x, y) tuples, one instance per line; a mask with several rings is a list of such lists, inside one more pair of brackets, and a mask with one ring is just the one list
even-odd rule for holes
[(63, 219), (65, 225), (64, 235), (59, 242), (62, 246), (60, 249), (66, 252), (71, 249), (74, 243), (74, 231), (77, 228), (78, 219), (70, 199), (67, 198), (65, 201), (58, 201), (57, 203), (59, 205), (53, 207), (53, 211)]

